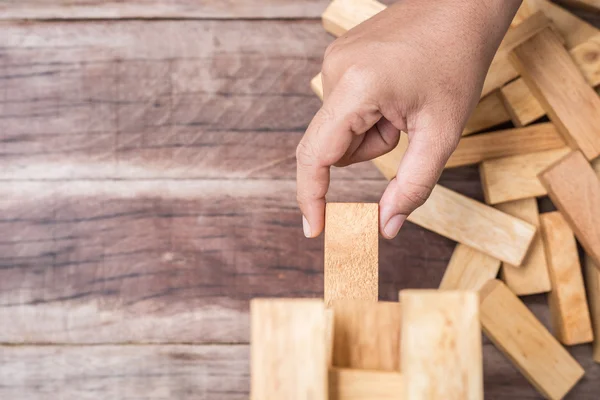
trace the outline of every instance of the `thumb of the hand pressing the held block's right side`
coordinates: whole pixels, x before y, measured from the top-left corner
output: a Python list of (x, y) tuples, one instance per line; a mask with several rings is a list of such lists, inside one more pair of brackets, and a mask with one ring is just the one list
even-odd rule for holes
[(460, 127), (441, 128), (438, 124), (427, 124), (409, 135), (396, 177), (379, 203), (380, 229), (385, 238), (394, 238), (408, 215), (429, 198), (459, 139)]

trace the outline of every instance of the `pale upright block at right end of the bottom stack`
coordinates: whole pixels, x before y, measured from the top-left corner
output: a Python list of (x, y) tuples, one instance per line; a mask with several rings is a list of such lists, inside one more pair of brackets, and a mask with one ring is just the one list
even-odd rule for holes
[(477, 292), (403, 290), (404, 400), (483, 399)]

